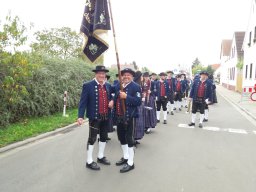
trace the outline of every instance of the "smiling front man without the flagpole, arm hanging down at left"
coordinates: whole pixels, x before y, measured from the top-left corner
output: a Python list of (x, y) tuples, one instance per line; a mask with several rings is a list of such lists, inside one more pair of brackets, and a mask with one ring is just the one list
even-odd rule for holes
[(113, 100), (111, 98), (111, 85), (105, 83), (108, 70), (104, 66), (99, 65), (96, 66), (93, 72), (95, 73), (95, 78), (83, 84), (77, 122), (79, 125), (82, 125), (86, 111), (86, 117), (89, 119), (86, 167), (92, 170), (100, 170), (100, 167), (92, 158), (93, 148), (97, 134), (99, 134), (100, 140), (97, 162), (110, 165), (110, 162), (104, 156), (104, 150)]

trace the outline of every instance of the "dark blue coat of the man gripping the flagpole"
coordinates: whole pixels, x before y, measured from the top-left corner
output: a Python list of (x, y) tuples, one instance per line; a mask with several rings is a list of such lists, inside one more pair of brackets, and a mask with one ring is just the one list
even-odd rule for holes
[[(119, 97), (119, 92), (120, 92), (120, 83), (116, 84), (114, 87), (115, 91), (115, 97), (114, 97), (114, 117), (116, 115), (116, 104), (117, 104), (117, 99)], [(141, 87), (136, 84), (135, 82), (131, 82), (129, 85), (127, 85), (124, 88), (124, 92), (127, 94), (127, 98), (125, 99), (125, 119), (129, 120), (131, 118), (138, 118), (138, 106), (141, 105)], [(122, 105), (121, 105), (122, 107)]]

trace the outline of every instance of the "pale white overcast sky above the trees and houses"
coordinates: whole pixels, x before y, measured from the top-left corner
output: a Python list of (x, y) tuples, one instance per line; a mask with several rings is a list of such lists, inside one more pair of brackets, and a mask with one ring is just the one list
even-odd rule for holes
[[(155, 72), (219, 63), (222, 39), (246, 31), (252, 0), (111, 0), (121, 63), (136, 61)], [(79, 32), (85, 0), (2, 0), (0, 20), (11, 11), (35, 29)], [(116, 63), (112, 33), (105, 65)]]

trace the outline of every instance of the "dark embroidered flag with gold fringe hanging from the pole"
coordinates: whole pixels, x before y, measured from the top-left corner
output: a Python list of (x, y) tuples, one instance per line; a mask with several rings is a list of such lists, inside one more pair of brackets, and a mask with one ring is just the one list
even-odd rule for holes
[(110, 30), (107, 0), (86, 0), (81, 33), (85, 37), (84, 54), (96, 61), (107, 49), (107, 31)]

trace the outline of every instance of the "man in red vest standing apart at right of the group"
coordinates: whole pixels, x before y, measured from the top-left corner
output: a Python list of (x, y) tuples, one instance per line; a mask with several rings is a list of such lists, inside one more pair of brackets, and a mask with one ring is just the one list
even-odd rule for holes
[(208, 73), (202, 71), (200, 73), (200, 79), (196, 79), (193, 82), (189, 96), (189, 99), (193, 100), (192, 120), (189, 126), (195, 126), (196, 112), (200, 110), (199, 128), (203, 128), (205, 106), (212, 102), (212, 84), (207, 78)]

